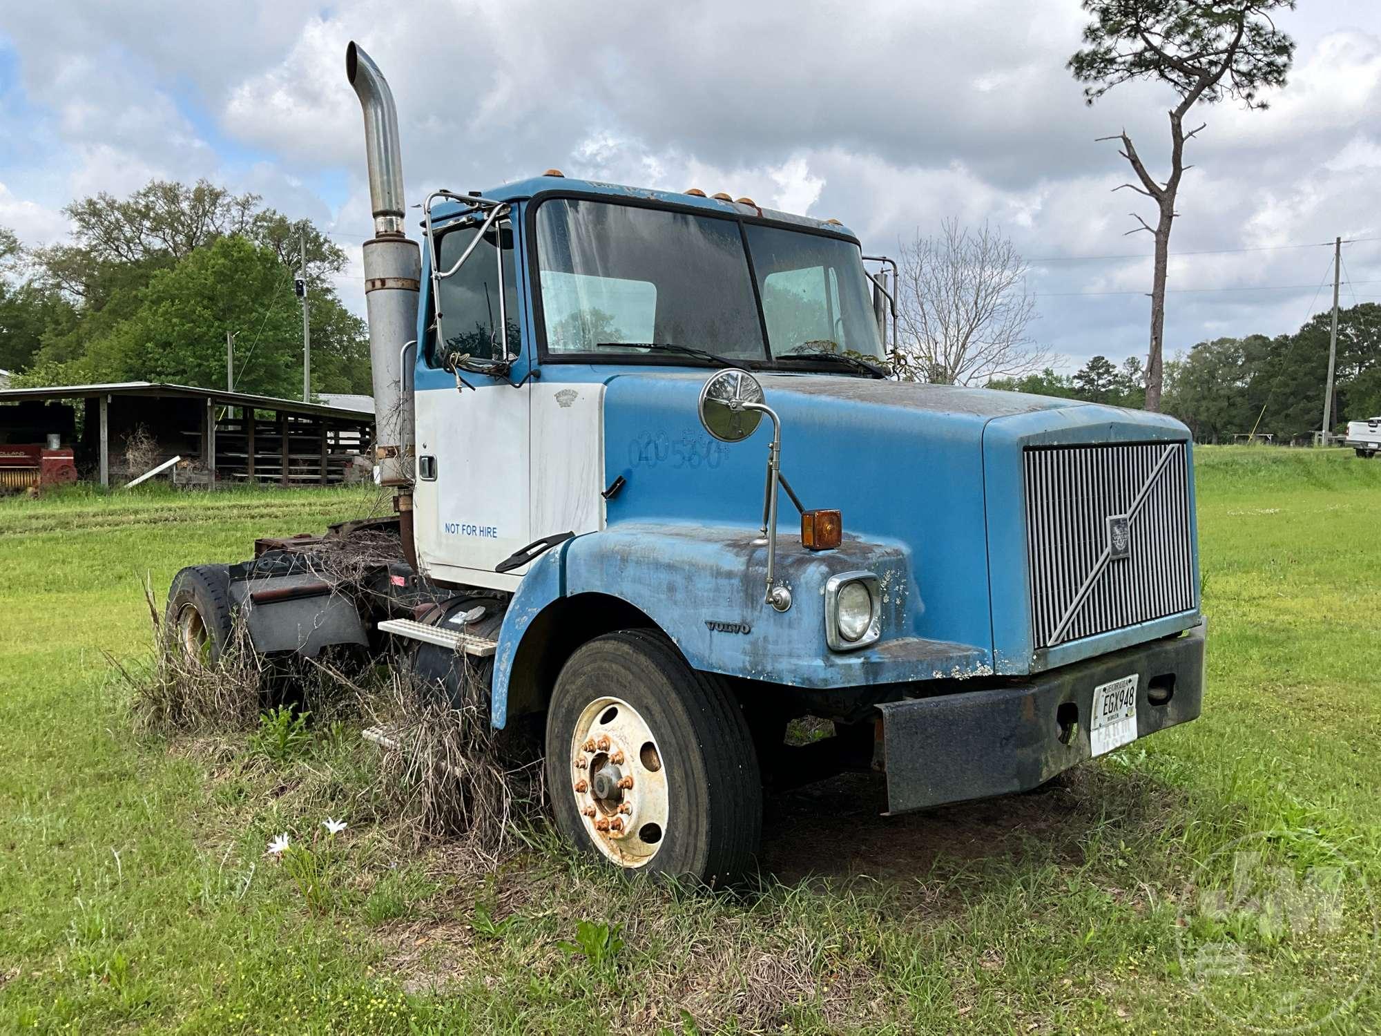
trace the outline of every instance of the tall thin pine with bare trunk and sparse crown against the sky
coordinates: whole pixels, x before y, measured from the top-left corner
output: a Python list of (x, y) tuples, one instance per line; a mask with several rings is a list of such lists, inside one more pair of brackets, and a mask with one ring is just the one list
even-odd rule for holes
[(1247, 108), (1265, 108), (1262, 87), (1284, 86), (1294, 55), (1294, 41), (1276, 29), (1271, 11), (1293, 8), (1294, 0), (1083, 0), (1092, 17), (1084, 28), (1084, 48), (1069, 59), (1069, 70), (1084, 83), (1090, 105), (1119, 83), (1150, 79), (1166, 83), (1179, 95), (1170, 109), (1170, 177), (1157, 181), (1132, 146), (1127, 131), (1101, 141), (1120, 141), (1119, 152), (1137, 174), (1135, 184), (1121, 184), (1156, 203), (1156, 225), (1137, 213), (1139, 224), (1127, 233), (1156, 239), (1150, 289), (1150, 349), (1146, 359), (1146, 409), (1160, 410), (1163, 380), (1161, 343), (1166, 329), (1166, 274), (1175, 196), (1186, 166), (1185, 142), (1204, 124), (1185, 131), (1184, 120), (1197, 102), (1225, 97)]

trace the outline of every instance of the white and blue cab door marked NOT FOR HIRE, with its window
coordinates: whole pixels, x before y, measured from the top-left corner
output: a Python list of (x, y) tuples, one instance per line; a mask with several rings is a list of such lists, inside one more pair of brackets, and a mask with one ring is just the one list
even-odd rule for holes
[[(478, 233), (478, 221), (438, 229), (438, 267), (450, 269)], [(532, 388), (523, 378), (530, 358), (522, 348), (514, 246), (504, 217), (441, 280), (439, 293), (428, 290), (417, 361), (418, 564), (434, 579), (499, 590), (515, 588), (525, 569), (499, 573), (496, 566), (533, 540)], [(512, 366), (485, 372), (503, 361)]]

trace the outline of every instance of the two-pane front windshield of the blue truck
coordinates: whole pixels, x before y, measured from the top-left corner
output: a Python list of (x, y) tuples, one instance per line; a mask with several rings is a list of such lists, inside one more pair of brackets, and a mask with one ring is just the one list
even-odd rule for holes
[(849, 242), (584, 199), (543, 203), (536, 228), (551, 354), (650, 355), (638, 347), (659, 344), (743, 363), (805, 352), (881, 356)]

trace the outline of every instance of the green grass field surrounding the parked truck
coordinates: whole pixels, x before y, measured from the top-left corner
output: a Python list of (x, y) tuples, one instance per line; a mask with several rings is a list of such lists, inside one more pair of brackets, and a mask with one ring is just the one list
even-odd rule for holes
[[(766, 873), (715, 895), (540, 826), (494, 872), (413, 854), (348, 728), (284, 761), (130, 732), (104, 653), (146, 656), (141, 580), (370, 495), (3, 500), (0, 1029), (1374, 1032), (1381, 463), (1203, 449), (1197, 485), (1201, 720), (1036, 794), (772, 798)], [(309, 910), (264, 847), (327, 814), (351, 827)]]

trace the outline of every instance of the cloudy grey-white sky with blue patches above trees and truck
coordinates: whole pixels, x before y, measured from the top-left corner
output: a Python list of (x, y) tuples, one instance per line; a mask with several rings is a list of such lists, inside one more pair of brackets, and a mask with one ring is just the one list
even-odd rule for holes
[[(204, 177), (330, 229), (362, 312), (354, 39), (398, 101), (410, 203), (558, 167), (838, 218), (867, 253), (987, 221), (1030, 265), (1033, 337), (1073, 370), (1145, 354), (1152, 242), (1127, 231), (1153, 210), (1113, 191), (1131, 171), (1097, 138), (1126, 128), (1160, 173), (1174, 104), (1138, 83), (1085, 106), (1065, 69), (1084, 19), (1077, 0), (6, 4), (0, 225), (40, 244), (73, 198)], [(1268, 111), (1201, 108), (1188, 145), (1167, 352), (1295, 330), (1331, 301), (1335, 236), (1342, 304), (1381, 300), (1381, 0), (1277, 23), (1287, 86)]]

